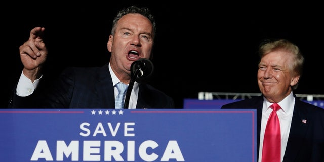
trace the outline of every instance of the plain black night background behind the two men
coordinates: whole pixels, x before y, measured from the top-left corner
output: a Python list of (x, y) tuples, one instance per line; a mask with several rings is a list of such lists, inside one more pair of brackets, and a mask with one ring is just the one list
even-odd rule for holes
[(177, 108), (201, 91), (259, 93), (256, 51), (265, 38), (289, 39), (303, 52), (304, 74), (296, 93), (324, 94), (324, 14), (319, 4), (43, 3), (1, 7), (5, 95), (0, 107), (7, 107), (21, 74), (19, 46), (32, 28), (46, 28), (47, 74), (56, 76), (67, 66), (102, 66), (110, 57), (112, 20), (118, 10), (132, 4), (149, 7), (155, 16), (154, 74), (149, 83), (173, 97)]

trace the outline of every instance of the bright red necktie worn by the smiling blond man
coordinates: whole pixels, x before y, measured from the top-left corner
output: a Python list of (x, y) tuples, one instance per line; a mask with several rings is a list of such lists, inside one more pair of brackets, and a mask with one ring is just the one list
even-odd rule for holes
[(262, 162), (280, 162), (281, 135), (277, 111), (281, 107), (277, 103), (272, 104), (270, 107), (272, 108), (272, 112), (265, 128), (262, 148)]

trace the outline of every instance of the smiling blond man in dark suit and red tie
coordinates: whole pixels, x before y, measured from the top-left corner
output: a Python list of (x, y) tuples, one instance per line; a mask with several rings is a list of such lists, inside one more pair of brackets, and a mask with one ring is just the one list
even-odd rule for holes
[(276, 112), (281, 132), (277, 161), (324, 161), (324, 109), (299, 100), (293, 92), (304, 64), (299, 48), (285, 39), (268, 40), (260, 44), (259, 54), (257, 78), (262, 95), (221, 108), (257, 109), (258, 161), (274, 161), (274, 157), (262, 158), (268, 154), (262, 150), (273, 103), (281, 107)]

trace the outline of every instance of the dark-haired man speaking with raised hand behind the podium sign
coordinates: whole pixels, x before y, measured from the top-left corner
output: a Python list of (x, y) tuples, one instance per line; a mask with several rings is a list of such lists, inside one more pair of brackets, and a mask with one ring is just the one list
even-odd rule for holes
[(28, 41), (19, 47), (24, 68), (9, 108), (115, 108), (117, 83), (132, 85), (129, 109), (174, 107), (173, 99), (165, 93), (147, 83), (132, 82), (132, 63), (150, 59), (153, 50), (156, 26), (148, 8), (130, 6), (117, 13), (107, 43), (111, 52), (107, 64), (67, 68), (55, 83), (41, 82), (48, 54), (44, 30), (32, 29)]

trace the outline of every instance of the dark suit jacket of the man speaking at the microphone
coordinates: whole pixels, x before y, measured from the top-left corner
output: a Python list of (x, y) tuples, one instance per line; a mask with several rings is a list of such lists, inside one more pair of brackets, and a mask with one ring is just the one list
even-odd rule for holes
[[(42, 80), (43, 81), (43, 80)], [(114, 91), (108, 63), (102, 67), (69, 67), (54, 84), (38, 85), (28, 97), (15, 94), (9, 108), (114, 108)], [(152, 86), (139, 84), (136, 108), (174, 108), (174, 101)]]

